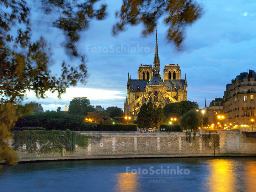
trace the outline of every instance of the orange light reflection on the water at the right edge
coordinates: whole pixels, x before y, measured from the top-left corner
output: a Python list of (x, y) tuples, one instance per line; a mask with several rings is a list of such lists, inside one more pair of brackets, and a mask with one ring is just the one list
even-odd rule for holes
[(247, 192), (252, 192), (256, 190), (256, 162), (249, 161), (246, 162), (244, 166), (244, 182)]

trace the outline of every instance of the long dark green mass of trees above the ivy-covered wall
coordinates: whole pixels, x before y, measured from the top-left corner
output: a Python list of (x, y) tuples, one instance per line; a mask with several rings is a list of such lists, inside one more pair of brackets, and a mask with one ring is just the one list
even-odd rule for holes
[(65, 112), (46, 111), (20, 117), (16, 127), (43, 127), (46, 130), (90, 130), (94, 123), (84, 122), (84, 117)]

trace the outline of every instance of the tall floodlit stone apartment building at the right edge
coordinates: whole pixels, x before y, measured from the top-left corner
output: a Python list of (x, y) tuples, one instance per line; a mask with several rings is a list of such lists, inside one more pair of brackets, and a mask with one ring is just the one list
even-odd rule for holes
[(226, 85), (224, 91), (224, 122), (232, 125), (249, 125), (255, 121), (256, 73), (243, 72)]

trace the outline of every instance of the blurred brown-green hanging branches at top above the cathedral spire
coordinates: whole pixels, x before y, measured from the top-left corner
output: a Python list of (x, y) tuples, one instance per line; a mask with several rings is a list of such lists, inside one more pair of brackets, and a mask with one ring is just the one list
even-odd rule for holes
[(113, 26), (113, 34), (126, 30), (127, 25), (143, 23), (143, 35), (152, 33), (157, 21), (164, 17), (164, 22), (169, 26), (167, 39), (180, 47), (185, 36), (185, 27), (191, 25), (201, 17), (202, 8), (193, 0), (123, 0), (120, 11), (116, 17), (120, 21)]

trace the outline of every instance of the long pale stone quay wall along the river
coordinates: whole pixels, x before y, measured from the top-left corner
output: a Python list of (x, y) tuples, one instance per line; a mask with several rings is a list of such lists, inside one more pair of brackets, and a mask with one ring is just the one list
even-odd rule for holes
[[(195, 135), (187, 132), (90, 132), (85, 148), (76, 146), (72, 152), (41, 153), (28, 151), (25, 145), (16, 149), (18, 161), (156, 158), (195, 156), (256, 156), (256, 138), (246, 137), (238, 129), (209, 133), (201, 130)], [(12, 145), (10, 142), (10, 146)], [(24, 143), (26, 144), (26, 143)], [(39, 148), (40, 146), (38, 146)]]

